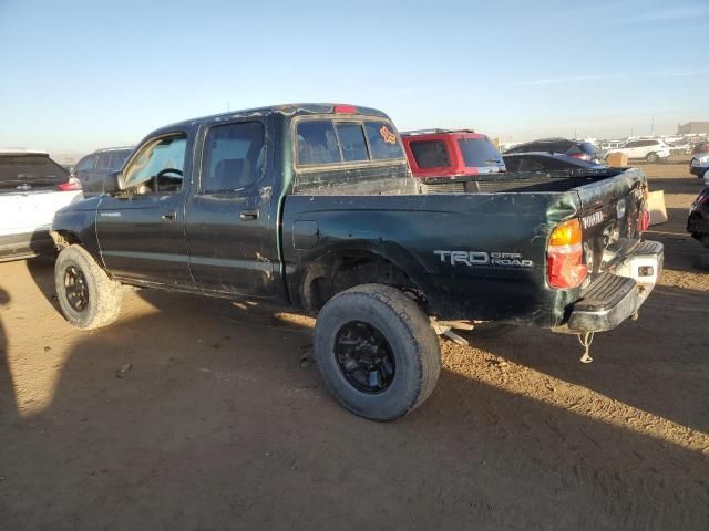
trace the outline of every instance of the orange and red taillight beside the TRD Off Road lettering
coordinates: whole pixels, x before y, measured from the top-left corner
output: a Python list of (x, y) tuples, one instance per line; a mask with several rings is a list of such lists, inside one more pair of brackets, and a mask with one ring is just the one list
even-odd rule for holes
[(546, 249), (546, 278), (552, 288), (576, 288), (586, 275), (582, 230), (578, 219), (558, 225)]

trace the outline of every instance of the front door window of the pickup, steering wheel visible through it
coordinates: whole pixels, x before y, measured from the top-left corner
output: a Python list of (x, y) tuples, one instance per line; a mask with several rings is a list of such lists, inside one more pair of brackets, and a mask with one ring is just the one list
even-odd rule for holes
[(177, 192), (182, 189), (185, 136), (154, 140), (141, 150), (125, 170), (125, 187), (141, 194)]

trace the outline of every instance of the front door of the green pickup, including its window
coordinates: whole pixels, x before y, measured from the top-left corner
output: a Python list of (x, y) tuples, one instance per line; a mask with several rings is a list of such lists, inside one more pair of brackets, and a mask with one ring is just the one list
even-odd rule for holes
[(184, 132), (147, 140), (123, 174), (124, 192), (105, 195), (96, 233), (109, 271), (119, 279), (192, 285), (184, 207), (192, 160)]

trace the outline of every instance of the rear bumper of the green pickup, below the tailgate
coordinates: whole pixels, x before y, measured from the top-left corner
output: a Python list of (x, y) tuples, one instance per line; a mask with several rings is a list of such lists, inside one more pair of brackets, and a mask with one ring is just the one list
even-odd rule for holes
[(657, 241), (638, 242), (610, 272), (599, 274), (569, 308), (567, 332), (613, 330), (634, 315), (653, 292), (665, 251)]

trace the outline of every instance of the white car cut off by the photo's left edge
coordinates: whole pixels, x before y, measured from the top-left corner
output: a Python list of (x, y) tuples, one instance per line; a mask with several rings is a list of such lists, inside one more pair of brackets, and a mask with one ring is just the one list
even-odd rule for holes
[(0, 261), (53, 253), (54, 212), (82, 198), (79, 180), (47, 153), (0, 150)]

